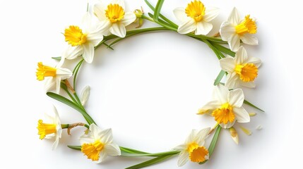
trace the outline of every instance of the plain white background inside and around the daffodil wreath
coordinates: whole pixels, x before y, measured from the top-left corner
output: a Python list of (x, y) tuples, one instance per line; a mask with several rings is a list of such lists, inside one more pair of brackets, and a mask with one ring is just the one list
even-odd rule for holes
[[(156, 1), (150, 1), (153, 5)], [(172, 20), (172, 10), (189, 1), (167, 0), (162, 13)], [(273, 0), (203, 1), (221, 8), (213, 31), (226, 20), (233, 6), (242, 17), (257, 19), (259, 46), (245, 46), (263, 65), (256, 89), (244, 89), (246, 99), (265, 113), (245, 106), (257, 115), (242, 124), (253, 134), (239, 130), (239, 145), (222, 130), (214, 154), (204, 165), (182, 168), (274, 168), (300, 165), (302, 147), (302, 18), (299, 1)], [(35, 77), (37, 62), (54, 65), (66, 43), (64, 28), (80, 22), (87, 1), (1, 1), (1, 168), (126, 168), (149, 158), (108, 157), (95, 164), (79, 151), (83, 128), (67, 135), (52, 151), (52, 140), (40, 140), (37, 120), (52, 115), (56, 106), (62, 123), (84, 122), (80, 113), (49, 99), (43, 82)], [(133, 11), (141, 1), (126, 1)], [(145, 23), (144, 27), (156, 26)], [(220, 71), (215, 54), (206, 44), (173, 32), (159, 32), (125, 39), (114, 51), (97, 50), (93, 64), (85, 63), (77, 92), (90, 85), (87, 111), (102, 128), (112, 127), (114, 141), (142, 151), (169, 151), (182, 144), (191, 129), (214, 125), (213, 118), (196, 115), (211, 99), (213, 80)], [(71, 66), (69, 62), (66, 66)], [(70, 67), (73, 68), (72, 66)], [(262, 125), (263, 130), (256, 130)], [(207, 146), (209, 140), (207, 142)], [(177, 157), (150, 168), (178, 168)]]

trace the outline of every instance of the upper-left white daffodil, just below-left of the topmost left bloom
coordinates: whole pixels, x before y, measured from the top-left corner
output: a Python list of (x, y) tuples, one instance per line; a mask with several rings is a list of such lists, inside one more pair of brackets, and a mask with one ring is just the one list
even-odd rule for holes
[(87, 63), (92, 63), (95, 49), (103, 39), (102, 27), (99, 23), (93, 23), (93, 18), (86, 13), (82, 20), (82, 25), (70, 25), (64, 31), (65, 41), (69, 43), (63, 57), (67, 59), (81, 56)]

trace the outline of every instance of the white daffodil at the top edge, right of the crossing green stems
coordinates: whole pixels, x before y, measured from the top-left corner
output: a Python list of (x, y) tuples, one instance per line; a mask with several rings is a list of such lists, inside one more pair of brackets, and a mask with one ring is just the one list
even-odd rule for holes
[(191, 1), (186, 8), (174, 9), (174, 15), (181, 22), (177, 31), (180, 34), (195, 31), (196, 35), (206, 35), (213, 29), (213, 25), (208, 22), (213, 20), (218, 14), (218, 8), (206, 8), (201, 1)]

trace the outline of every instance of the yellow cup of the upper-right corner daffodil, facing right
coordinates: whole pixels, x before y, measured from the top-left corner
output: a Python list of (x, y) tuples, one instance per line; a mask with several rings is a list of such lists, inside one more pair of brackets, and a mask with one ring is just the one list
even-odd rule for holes
[(244, 35), (246, 33), (256, 33), (256, 21), (249, 18), (249, 16), (250, 15), (246, 15), (242, 23), (236, 26), (236, 32), (238, 35)]

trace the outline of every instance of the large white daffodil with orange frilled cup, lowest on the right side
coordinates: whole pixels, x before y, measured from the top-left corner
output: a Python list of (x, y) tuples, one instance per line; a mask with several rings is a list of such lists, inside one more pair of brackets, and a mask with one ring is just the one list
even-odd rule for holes
[(242, 107), (244, 94), (242, 89), (228, 90), (219, 84), (213, 92), (213, 101), (203, 106), (198, 114), (212, 115), (223, 128), (230, 128), (234, 123), (248, 123), (249, 113)]

